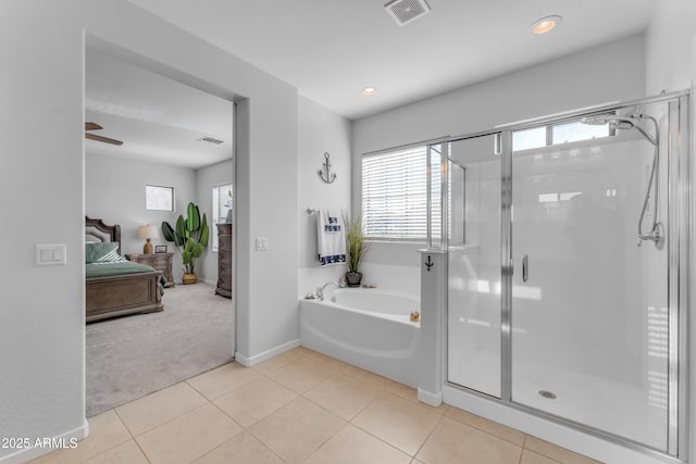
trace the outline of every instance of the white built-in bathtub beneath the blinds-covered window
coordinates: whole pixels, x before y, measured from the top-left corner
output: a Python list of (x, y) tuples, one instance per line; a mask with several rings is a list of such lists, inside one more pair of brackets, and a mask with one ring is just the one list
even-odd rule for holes
[(421, 323), (415, 297), (381, 289), (326, 289), (324, 301), (300, 301), (303, 347), (418, 387)]

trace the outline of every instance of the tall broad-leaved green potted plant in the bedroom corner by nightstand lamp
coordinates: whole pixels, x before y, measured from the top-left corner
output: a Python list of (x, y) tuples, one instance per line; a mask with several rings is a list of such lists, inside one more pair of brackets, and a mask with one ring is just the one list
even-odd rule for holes
[(184, 264), (184, 284), (196, 284), (196, 260), (203, 254), (208, 244), (210, 231), (208, 229), (208, 216), (203, 213), (200, 218), (198, 206), (189, 202), (186, 206), (186, 217), (179, 214), (176, 220), (176, 228), (166, 221), (162, 222), (162, 236), (166, 241), (172, 241), (182, 255)]

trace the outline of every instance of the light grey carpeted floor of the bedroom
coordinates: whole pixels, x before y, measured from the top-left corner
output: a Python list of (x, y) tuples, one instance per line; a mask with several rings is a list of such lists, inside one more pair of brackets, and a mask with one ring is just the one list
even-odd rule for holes
[(198, 283), (167, 288), (164, 311), (87, 324), (87, 416), (232, 359), (232, 300)]

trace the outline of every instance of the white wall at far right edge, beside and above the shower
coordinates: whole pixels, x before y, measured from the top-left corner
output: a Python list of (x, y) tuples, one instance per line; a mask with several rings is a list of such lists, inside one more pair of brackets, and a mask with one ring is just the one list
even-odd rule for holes
[[(673, 0), (656, 2), (646, 33), (646, 92), (657, 93), (692, 89), (696, 83), (696, 2), (693, 0)], [(692, 183), (696, 179), (696, 109), (692, 95)], [(692, 187), (692, 195), (695, 195)], [(696, 217), (696, 197), (692, 198), (692, 228)], [(696, 340), (696, 238), (691, 234), (691, 343)], [(696, 462), (696, 356), (691, 356), (691, 462)]]

